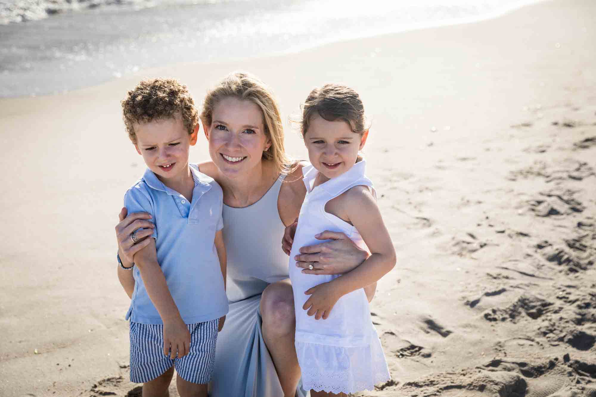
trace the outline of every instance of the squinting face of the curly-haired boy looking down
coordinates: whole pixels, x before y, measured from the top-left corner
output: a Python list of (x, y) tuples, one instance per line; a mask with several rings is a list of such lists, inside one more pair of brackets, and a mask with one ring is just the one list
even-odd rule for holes
[(197, 143), (198, 124), (191, 135), (180, 116), (135, 124), (134, 129), (136, 151), (159, 179), (173, 179), (187, 172), (188, 152)]

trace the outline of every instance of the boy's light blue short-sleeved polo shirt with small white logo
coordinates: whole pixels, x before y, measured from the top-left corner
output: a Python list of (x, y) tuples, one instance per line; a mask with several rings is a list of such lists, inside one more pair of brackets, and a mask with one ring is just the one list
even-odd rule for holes
[[(214, 320), (228, 313), (224, 277), (215, 249), (215, 232), (224, 227), (221, 187), (190, 165), (194, 179), (191, 203), (166, 187), (150, 170), (124, 196), (128, 213), (148, 212), (156, 225), (157, 262), (185, 324)], [(126, 320), (163, 324), (149, 299), (139, 269)]]

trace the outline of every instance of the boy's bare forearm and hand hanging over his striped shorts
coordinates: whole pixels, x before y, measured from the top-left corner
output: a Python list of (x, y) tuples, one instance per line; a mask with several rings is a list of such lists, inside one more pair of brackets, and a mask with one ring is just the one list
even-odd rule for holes
[(135, 266), (141, 273), (141, 278), (147, 289), (151, 302), (159, 312), (163, 321), (163, 353), (170, 358), (182, 357), (188, 354), (190, 348), (190, 332), (178, 311), (178, 307), (167, 288), (166, 277), (157, 263), (157, 251), (154, 238), (139, 252), (135, 253)]

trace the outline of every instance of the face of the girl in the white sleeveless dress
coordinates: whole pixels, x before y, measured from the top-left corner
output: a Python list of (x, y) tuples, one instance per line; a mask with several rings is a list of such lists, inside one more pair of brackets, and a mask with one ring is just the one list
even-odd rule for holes
[(328, 180), (352, 168), (367, 136), (368, 131), (364, 134), (352, 132), (343, 120), (330, 122), (315, 114), (310, 120), (304, 141), (312, 166)]

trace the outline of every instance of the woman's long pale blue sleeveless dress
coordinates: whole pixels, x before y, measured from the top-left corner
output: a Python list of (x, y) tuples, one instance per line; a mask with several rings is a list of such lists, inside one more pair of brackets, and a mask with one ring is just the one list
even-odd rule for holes
[[(283, 396), (275, 366), (261, 332), (261, 293), (288, 278), (288, 256), (281, 250), (285, 226), (277, 210), (284, 175), (256, 203), (243, 208), (224, 204), (224, 241), (228, 253), (229, 312), (219, 333), (210, 397)], [(297, 396), (305, 393), (299, 389)]]

